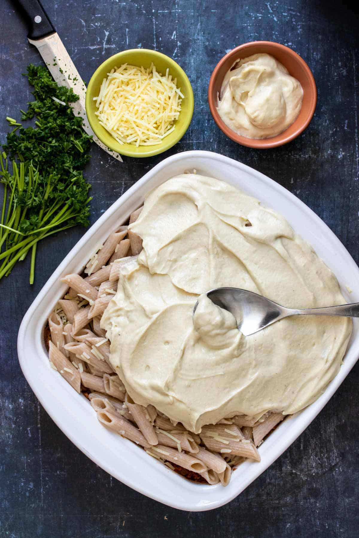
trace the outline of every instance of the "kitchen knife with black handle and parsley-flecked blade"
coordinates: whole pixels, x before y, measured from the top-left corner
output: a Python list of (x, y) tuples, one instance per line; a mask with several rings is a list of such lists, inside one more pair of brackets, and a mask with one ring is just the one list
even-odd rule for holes
[(47, 17), (43, 6), (38, 0), (16, 0), (16, 4), (20, 5), (22, 14), (29, 27), (27, 39), (29, 40), (29, 43), (36, 46), (38, 49), (54, 80), (59, 86), (72, 88), (74, 93), (80, 97), (79, 101), (72, 103), (71, 106), (74, 115), (82, 117), (83, 130), (86, 131), (87, 134), (90, 134), (93, 137), (93, 141), (105, 152), (122, 162), (121, 155), (110, 150), (103, 144), (91, 129), (85, 108), (85, 83), (82, 81), (78, 70), (74, 66), (64, 44), (59, 38), (57, 31)]

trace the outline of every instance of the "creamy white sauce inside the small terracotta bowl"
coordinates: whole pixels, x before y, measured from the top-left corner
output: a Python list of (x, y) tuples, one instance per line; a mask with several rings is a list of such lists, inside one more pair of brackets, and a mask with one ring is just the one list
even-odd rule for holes
[(300, 112), (300, 83), (269, 54), (254, 54), (236, 64), (223, 79), (219, 115), (241, 136), (277, 136)]

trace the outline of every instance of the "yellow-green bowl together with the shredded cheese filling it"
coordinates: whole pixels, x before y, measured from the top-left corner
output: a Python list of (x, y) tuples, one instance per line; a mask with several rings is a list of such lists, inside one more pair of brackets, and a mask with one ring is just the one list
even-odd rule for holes
[(184, 70), (149, 49), (111, 56), (91, 77), (86, 112), (111, 150), (150, 157), (178, 142), (191, 123), (193, 91)]

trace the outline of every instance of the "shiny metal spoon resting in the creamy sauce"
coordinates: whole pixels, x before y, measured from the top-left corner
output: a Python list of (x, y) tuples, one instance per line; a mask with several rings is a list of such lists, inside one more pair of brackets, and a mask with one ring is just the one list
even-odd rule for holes
[[(285, 308), (257, 293), (240, 288), (215, 288), (207, 292), (207, 297), (215, 305), (228, 310), (236, 318), (238, 329), (249, 336), (288, 316), (348, 316), (359, 317), (359, 303), (329, 306), (325, 308), (306, 308), (294, 310)], [(196, 302), (193, 314), (198, 306)]]

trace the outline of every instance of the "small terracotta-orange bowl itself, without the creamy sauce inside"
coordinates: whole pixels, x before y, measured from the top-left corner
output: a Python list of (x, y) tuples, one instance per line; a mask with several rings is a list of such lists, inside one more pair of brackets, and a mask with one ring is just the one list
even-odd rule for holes
[[(217, 112), (217, 100), (221, 93), (224, 75), (226, 75), (236, 61), (258, 53), (271, 54), (280, 63), (283, 63), (290, 75), (299, 80), (304, 92), (302, 107), (295, 122), (288, 129), (277, 134), (277, 136), (264, 139), (240, 136), (227, 127)], [(296, 52), (292, 51), (291, 48), (280, 45), (279, 43), (272, 43), (272, 41), (252, 41), (252, 43), (244, 43), (234, 48), (233, 51), (223, 56), (222, 60), (217, 63), (209, 81), (208, 103), (214, 121), (229, 138), (238, 144), (242, 144), (242, 146), (267, 149), (269, 147), (287, 144), (307, 128), (315, 110), (316, 86), (312, 72), (306, 62)]]

